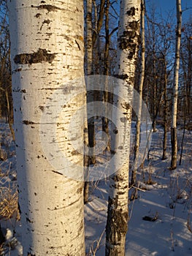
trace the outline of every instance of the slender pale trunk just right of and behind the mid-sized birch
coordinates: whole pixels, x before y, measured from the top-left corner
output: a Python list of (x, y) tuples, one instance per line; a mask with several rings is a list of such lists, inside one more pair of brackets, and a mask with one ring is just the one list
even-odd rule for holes
[(141, 114), (142, 114), (142, 88), (145, 78), (145, 0), (142, 0), (141, 5), (141, 40), (142, 40), (142, 59), (141, 59), (141, 74), (139, 80), (139, 102), (138, 105), (138, 114), (137, 114), (137, 126), (136, 126), (136, 139), (134, 146), (134, 165), (131, 175), (131, 185), (136, 183), (136, 175), (138, 161), (139, 161), (139, 142), (140, 142), (140, 128), (141, 128)]

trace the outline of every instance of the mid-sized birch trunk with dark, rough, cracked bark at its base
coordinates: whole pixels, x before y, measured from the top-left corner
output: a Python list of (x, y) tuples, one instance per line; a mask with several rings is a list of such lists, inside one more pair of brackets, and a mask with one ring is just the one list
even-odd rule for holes
[[(106, 256), (125, 255), (128, 230), (128, 166), (131, 132), (131, 107), (128, 102), (133, 97), (134, 72), (139, 48), (140, 9), (140, 0), (123, 0), (120, 2), (116, 77), (122, 78), (124, 83), (123, 88), (120, 88), (120, 84), (118, 84), (118, 99), (114, 99), (114, 102), (123, 114), (123, 118), (116, 116), (118, 130), (115, 129), (114, 132), (118, 135), (119, 143), (115, 138), (114, 154), (126, 164), (120, 167), (113, 176), (110, 176)], [(127, 86), (131, 88), (127, 88)], [(127, 102), (120, 102), (120, 99), (127, 99)], [(122, 155), (123, 150), (125, 154)], [(118, 164), (119, 162), (115, 162), (114, 167), (118, 167)]]

